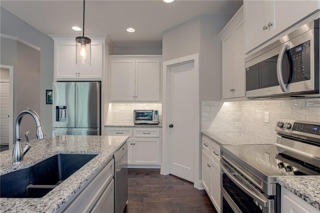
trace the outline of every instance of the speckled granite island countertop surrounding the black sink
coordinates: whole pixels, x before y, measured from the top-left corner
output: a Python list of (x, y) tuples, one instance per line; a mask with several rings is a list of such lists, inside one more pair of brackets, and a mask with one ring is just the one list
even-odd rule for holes
[(21, 164), (12, 164), (12, 150), (0, 153), (0, 175), (30, 167), (58, 153), (98, 154), (41, 198), (0, 198), (0, 212), (55, 212), (111, 158), (127, 136), (60, 135), (31, 140)]

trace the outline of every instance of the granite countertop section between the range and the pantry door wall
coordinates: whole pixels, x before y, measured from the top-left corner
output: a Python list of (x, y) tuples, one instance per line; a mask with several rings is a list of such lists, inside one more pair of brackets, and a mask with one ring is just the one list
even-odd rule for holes
[(234, 132), (215, 132), (215, 131), (201, 131), (201, 134), (210, 138), (218, 145), (224, 144), (273, 144), (271, 141), (262, 137), (251, 135), (241, 131)]

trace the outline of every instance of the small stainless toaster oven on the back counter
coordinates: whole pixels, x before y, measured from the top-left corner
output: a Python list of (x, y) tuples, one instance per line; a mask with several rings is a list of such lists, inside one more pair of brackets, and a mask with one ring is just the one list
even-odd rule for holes
[(158, 110), (133, 110), (134, 124), (158, 124), (159, 111)]

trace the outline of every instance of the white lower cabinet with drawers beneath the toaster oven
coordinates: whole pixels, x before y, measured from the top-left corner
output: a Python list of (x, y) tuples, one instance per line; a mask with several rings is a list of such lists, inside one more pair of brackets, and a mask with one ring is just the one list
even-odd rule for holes
[(129, 168), (160, 167), (160, 128), (105, 127), (105, 134), (129, 136), (127, 139)]

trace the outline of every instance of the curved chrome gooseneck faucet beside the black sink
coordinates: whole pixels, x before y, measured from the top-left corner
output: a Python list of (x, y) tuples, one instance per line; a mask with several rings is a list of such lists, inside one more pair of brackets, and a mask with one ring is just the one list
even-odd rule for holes
[(22, 147), (21, 143), (20, 143), (20, 140), (21, 140), (20, 121), (25, 114), (30, 114), (33, 117), (33, 119), (35, 120), (36, 138), (43, 139), (46, 137), (46, 134), (45, 134), (45, 131), (42, 127), (39, 115), (35, 111), (30, 110), (30, 109), (26, 109), (26, 110), (21, 111), (15, 119), (15, 144), (14, 144), (13, 153), (12, 153), (12, 163), (13, 164), (19, 164), (23, 160), (24, 154), (31, 147), (29, 145), (29, 137), (28, 137), (29, 131), (25, 132), (26, 144)]

